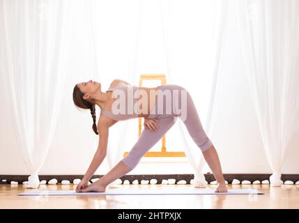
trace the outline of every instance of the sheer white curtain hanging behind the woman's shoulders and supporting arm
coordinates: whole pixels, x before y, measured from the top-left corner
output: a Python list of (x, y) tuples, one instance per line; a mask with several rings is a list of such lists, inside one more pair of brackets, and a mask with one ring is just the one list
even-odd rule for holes
[[(128, 68), (122, 67), (122, 63), (118, 61), (117, 58), (114, 58), (114, 63), (118, 64), (119, 70), (126, 70), (125, 73), (119, 73), (118, 75), (114, 76), (116, 79), (123, 79), (130, 84), (138, 85), (138, 75), (137, 75), (137, 53), (138, 53), (138, 47), (139, 47), (139, 35), (140, 35), (140, 28), (141, 28), (141, 15), (143, 10), (143, 1), (144, 0), (135, 0), (135, 1), (128, 1), (127, 3), (130, 4), (130, 7), (127, 6), (127, 10), (125, 13), (130, 13), (135, 16), (134, 20), (136, 23), (131, 23), (129, 17), (122, 17), (122, 20), (119, 20), (117, 18), (118, 22), (116, 22), (116, 26), (114, 26), (114, 29), (118, 29), (121, 31), (121, 26), (124, 29), (128, 29), (129, 33), (128, 36), (130, 38), (125, 38), (124, 36), (114, 36), (116, 40), (128, 40), (128, 43), (125, 43), (125, 45), (129, 45), (131, 47), (128, 48), (121, 48), (119, 49), (122, 51), (123, 54), (127, 54), (128, 59)], [(115, 3), (121, 4), (121, 1), (116, 1)], [(123, 2), (124, 3), (124, 2)], [(101, 24), (100, 17), (97, 16), (97, 13), (100, 8), (105, 8), (105, 10), (110, 10), (110, 7), (114, 8), (115, 5), (113, 3), (108, 3), (104, 1), (92, 1), (87, 0), (84, 2), (85, 6), (85, 14), (86, 14), (86, 24), (88, 26), (88, 39), (89, 39), (89, 47), (91, 53), (90, 61), (91, 61), (91, 71), (93, 73), (93, 77), (96, 79), (100, 79), (100, 82), (105, 82), (105, 79), (109, 79), (109, 82), (112, 82), (114, 79), (113, 77), (107, 78), (107, 75), (105, 73), (100, 73), (100, 65), (101, 61), (98, 59), (98, 55), (100, 54), (100, 50), (102, 50), (99, 46), (99, 35), (104, 35), (105, 33), (105, 27), (103, 27), (103, 24)], [(119, 5), (120, 6), (120, 5)], [(121, 17), (116, 12), (115, 14), (109, 15), (111, 17)], [(107, 19), (107, 18), (105, 18)], [(131, 27), (132, 26), (132, 27)], [(130, 29), (129, 29), (130, 27)], [(109, 27), (109, 29), (111, 29)], [(132, 30), (132, 32), (130, 32)], [(101, 32), (99, 32), (101, 31)], [(105, 35), (110, 35), (110, 33), (105, 33)], [(128, 49), (128, 52), (126, 50)], [(117, 52), (116, 52), (117, 53)], [(102, 82), (103, 81), (103, 82)], [(102, 91), (105, 91), (106, 89), (102, 89)], [(116, 123), (112, 128), (109, 128), (109, 138), (108, 138), (108, 144), (107, 144), (107, 164), (109, 166), (109, 169), (112, 169), (122, 158), (123, 153), (125, 151), (125, 139), (126, 137), (132, 137), (132, 132), (129, 132), (128, 130), (130, 121), (120, 121)], [(136, 125), (132, 127), (132, 129), (136, 129)], [(97, 137), (98, 141), (98, 137)], [(116, 180), (108, 185), (108, 187), (118, 187), (116, 185)]]

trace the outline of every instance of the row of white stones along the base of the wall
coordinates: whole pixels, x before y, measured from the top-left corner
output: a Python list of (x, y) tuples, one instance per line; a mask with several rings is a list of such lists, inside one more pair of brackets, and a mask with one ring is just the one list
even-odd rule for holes
[[(93, 179), (91, 179), (91, 182), (95, 182), (98, 179), (99, 178), (93, 178)], [(80, 183), (80, 181), (81, 180), (79, 178), (77, 178), (77, 179), (73, 180), (72, 183), (74, 185), (77, 185), (77, 184)], [(2, 180), (2, 182), (6, 182), (6, 180)], [(22, 184), (26, 185), (27, 183), (28, 183), (28, 181), (24, 181)], [(49, 185), (55, 185), (57, 183), (58, 183), (58, 180), (55, 179), (55, 178), (49, 180), (49, 182), (48, 182)], [(121, 179), (117, 179), (116, 180), (116, 184), (122, 184), (122, 183), (124, 185), (129, 185), (130, 181), (129, 180), (122, 181)], [(154, 184), (158, 183), (158, 180), (156, 180), (156, 179), (141, 180), (141, 182), (140, 182), (140, 184), (142, 184), (142, 185), (146, 185), (148, 183), (154, 185)], [(193, 179), (190, 180), (190, 184), (193, 184), (193, 183), (194, 183), (194, 180)], [(225, 183), (228, 184), (227, 180), (225, 180)], [(285, 184), (285, 185), (293, 185), (294, 184), (294, 182), (292, 180), (286, 180), (284, 182), (281, 180), (281, 183)], [(17, 181), (11, 181), (10, 184), (17, 185), (18, 183), (17, 183)], [(40, 181), (40, 185), (45, 185), (45, 184), (47, 184), (47, 180), (41, 180)], [(70, 184), (70, 180), (62, 180), (61, 184), (63, 184), (63, 185), (69, 185)], [(89, 184), (91, 184), (91, 183), (89, 182)], [(139, 184), (139, 181), (138, 180), (133, 180), (132, 184), (137, 185), (137, 184)], [(169, 185), (173, 185), (173, 184), (184, 185), (184, 184), (187, 184), (187, 181), (186, 180), (178, 180), (178, 182), (176, 183), (176, 179), (170, 178), (170, 179), (163, 179), (161, 184), (163, 184), (163, 185), (167, 185), (167, 184), (169, 184)], [(254, 182), (251, 183), (250, 180), (242, 180), (242, 182), (241, 182), (238, 179), (233, 179), (233, 181), (231, 182), (231, 184), (232, 185), (238, 185), (238, 184), (243, 184), (243, 185), (249, 185), (249, 184), (254, 184), (254, 185), (257, 185), (257, 184), (266, 184), (267, 185), (267, 184), (270, 184), (270, 182), (269, 182), (269, 180), (262, 180), (262, 181), (260, 181), (260, 180), (254, 180)], [(299, 185), (299, 180), (295, 184)], [(210, 185), (217, 185), (217, 181), (214, 180), (214, 181), (210, 182)]]

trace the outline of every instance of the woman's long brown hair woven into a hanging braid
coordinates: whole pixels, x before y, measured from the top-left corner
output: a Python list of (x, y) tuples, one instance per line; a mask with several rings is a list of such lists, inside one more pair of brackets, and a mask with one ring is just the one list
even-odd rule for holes
[(95, 134), (98, 134), (98, 128), (97, 124), (95, 123), (96, 121), (96, 116), (95, 116), (95, 104), (89, 102), (88, 100), (85, 100), (83, 98), (84, 93), (80, 91), (80, 89), (77, 87), (77, 84), (74, 87), (74, 91), (72, 92), (72, 100), (74, 101), (75, 105), (79, 108), (82, 109), (90, 109), (91, 110), (91, 117), (93, 118), (93, 132)]

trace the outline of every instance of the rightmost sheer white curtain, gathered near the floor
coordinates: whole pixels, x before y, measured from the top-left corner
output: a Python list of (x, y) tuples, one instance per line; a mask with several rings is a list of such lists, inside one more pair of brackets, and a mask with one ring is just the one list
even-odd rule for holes
[(263, 148), (281, 185), (282, 165), (298, 114), (299, 1), (242, 0), (240, 38)]

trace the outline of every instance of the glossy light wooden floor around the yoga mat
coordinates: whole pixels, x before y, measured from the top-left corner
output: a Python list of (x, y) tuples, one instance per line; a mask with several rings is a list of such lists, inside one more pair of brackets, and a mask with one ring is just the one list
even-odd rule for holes
[[(119, 185), (128, 187), (192, 187), (192, 185)], [(214, 189), (216, 185), (208, 185)], [(0, 185), (0, 208), (299, 208), (299, 185), (228, 185), (229, 189), (254, 188), (256, 195), (99, 195), (17, 196), (24, 185)], [(73, 190), (74, 185), (40, 185), (40, 190)], [(201, 189), (199, 189), (201, 190)]]

